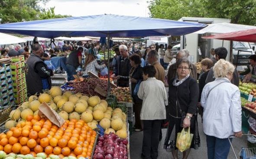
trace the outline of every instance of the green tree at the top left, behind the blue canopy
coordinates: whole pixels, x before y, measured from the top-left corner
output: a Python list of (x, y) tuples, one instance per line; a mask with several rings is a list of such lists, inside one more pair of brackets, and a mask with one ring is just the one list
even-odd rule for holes
[(48, 1), (49, 0), (0, 0), (0, 23), (67, 17), (55, 15), (54, 7), (45, 10), (39, 6), (39, 2), (47, 3)]

